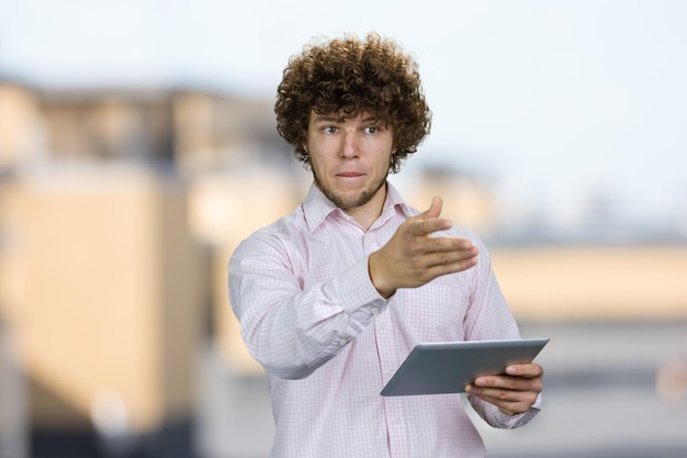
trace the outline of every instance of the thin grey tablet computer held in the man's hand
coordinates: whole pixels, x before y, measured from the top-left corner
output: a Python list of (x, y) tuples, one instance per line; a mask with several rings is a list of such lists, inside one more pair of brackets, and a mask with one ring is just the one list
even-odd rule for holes
[(476, 377), (502, 375), (506, 366), (531, 362), (548, 342), (522, 338), (418, 344), (380, 394), (460, 393)]

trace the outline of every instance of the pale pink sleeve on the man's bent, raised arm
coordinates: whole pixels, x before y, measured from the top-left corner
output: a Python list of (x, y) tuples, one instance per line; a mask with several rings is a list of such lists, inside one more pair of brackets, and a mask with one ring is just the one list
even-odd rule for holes
[(229, 299), (241, 335), (266, 371), (302, 379), (336, 356), (386, 306), (368, 258), (304, 290), (278, 237), (252, 236), (229, 260)]

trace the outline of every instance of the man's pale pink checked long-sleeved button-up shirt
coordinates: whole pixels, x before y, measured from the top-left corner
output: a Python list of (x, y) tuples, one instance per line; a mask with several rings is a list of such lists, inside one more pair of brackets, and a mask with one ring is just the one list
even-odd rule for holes
[[(477, 266), (383, 299), (368, 256), (418, 212), (388, 185), (380, 217), (363, 230), (312, 187), (289, 216), (244, 241), (229, 261), (229, 295), (250, 354), (272, 395), (273, 458), (483, 457), (461, 395), (384, 398), (388, 381), (421, 342), (518, 338), (492, 272)], [(491, 425), (511, 428), (539, 411), (507, 416), (469, 398)]]

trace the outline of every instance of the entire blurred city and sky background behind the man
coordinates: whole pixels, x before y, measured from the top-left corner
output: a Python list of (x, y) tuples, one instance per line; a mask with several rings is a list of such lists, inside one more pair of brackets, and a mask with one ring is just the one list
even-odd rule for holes
[[(264, 458), (236, 244), (309, 186), (313, 36), (393, 37), (432, 133), (391, 180), (480, 234), (544, 411), (489, 457), (687, 456), (687, 3), (0, 0), (0, 458)], [(316, 395), (316, 394), (314, 394)]]

